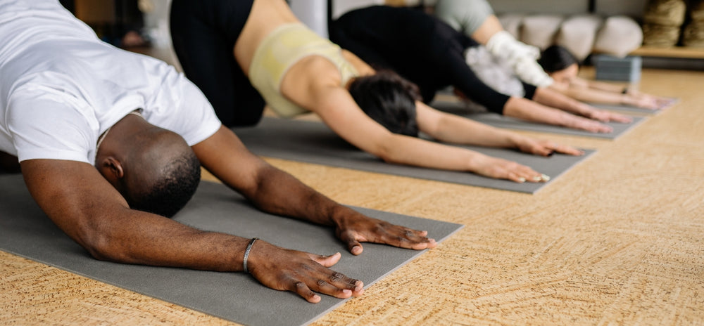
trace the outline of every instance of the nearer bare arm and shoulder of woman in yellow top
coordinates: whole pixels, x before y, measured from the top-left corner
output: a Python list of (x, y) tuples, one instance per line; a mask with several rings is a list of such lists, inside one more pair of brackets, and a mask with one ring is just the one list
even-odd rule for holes
[(310, 56), (300, 60), (287, 72), (281, 90), (294, 103), (317, 113), (330, 129), (346, 141), (385, 162), (471, 171), (516, 182), (542, 180), (541, 174), (515, 162), (391, 133), (358, 107), (349, 92), (341, 86), (337, 68), (325, 58)]

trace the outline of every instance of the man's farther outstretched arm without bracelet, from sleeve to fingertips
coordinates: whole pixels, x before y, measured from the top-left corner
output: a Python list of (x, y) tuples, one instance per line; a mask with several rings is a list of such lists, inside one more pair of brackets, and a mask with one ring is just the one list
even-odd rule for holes
[(330, 200), (253, 155), (230, 129), (193, 146), (203, 167), (254, 202), (263, 211), (333, 226), (352, 254), (361, 254), (360, 242), (391, 244), (408, 249), (436, 246), (427, 232), (372, 219)]

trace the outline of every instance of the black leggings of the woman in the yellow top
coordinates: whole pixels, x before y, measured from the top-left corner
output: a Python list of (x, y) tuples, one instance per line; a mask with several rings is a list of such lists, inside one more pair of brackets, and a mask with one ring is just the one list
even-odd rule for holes
[(171, 38), (184, 73), (226, 126), (257, 124), (264, 110), (264, 99), (233, 53), (252, 2), (173, 0), (171, 4)]

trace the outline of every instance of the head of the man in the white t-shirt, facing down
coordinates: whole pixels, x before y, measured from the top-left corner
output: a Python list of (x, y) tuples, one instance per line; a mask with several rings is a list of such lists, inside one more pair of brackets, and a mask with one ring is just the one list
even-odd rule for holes
[(96, 169), (130, 208), (172, 217), (191, 199), (201, 164), (177, 133), (127, 115), (103, 134)]

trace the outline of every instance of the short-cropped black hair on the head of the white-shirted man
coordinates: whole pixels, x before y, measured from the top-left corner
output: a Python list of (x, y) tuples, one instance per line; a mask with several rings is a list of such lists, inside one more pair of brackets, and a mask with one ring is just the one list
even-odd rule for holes
[(138, 199), (128, 200), (130, 208), (172, 217), (191, 200), (201, 181), (201, 163), (191, 150), (184, 151), (161, 171), (161, 179)]

